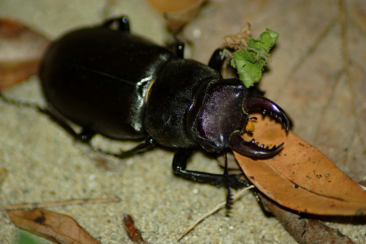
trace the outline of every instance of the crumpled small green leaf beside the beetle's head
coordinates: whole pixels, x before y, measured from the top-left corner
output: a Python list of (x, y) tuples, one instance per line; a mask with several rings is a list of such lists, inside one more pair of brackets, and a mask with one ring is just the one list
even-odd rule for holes
[(279, 34), (266, 29), (258, 39), (249, 38), (248, 47), (234, 52), (230, 61), (232, 67), (236, 68), (239, 79), (246, 87), (253, 86), (262, 77), (262, 69), (270, 60), (269, 50), (278, 40)]

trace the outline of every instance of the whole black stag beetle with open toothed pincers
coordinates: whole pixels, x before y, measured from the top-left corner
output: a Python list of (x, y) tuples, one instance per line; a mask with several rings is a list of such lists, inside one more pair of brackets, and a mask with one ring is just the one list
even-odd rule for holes
[[(261, 109), (281, 118), (285, 112), (269, 99), (249, 93), (235, 78), (223, 79), (222, 63), (213, 55), (209, 66), (183, 59), (183, 46), (175, 50), (130, 34), (126, 17), (72, 31), (53, 42), (40, 66), (46, 108), (41, 112), (62, 125), (75, 138), (89, 143), (96, 133), (118, 140), (145, 139), (128, 157), (157, 143), (175, 148), (173, 172), (186, 179), (214, 185), (243, 187), (238, 175), (186, 170), (193, 148), (209, 152), (230, 147), (250, 157), (268, 157), (279, 146), (258, 146), (243, 140), (249, 111)], [(215, 69), (216, 68), (216, 69)], [(77, 134), (62, 116), (80, 125)], [(225, 183), (224, 183), (225, 181)]]

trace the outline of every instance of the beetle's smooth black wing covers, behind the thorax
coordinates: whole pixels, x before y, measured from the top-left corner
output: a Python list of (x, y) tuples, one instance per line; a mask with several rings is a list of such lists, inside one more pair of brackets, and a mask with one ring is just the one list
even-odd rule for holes
[(139, 139), (147, 87), (174, 55), (106, 27), (70, 33), (52, 44), (40, 77), (48, 102), (67, 119), (116, 139)]

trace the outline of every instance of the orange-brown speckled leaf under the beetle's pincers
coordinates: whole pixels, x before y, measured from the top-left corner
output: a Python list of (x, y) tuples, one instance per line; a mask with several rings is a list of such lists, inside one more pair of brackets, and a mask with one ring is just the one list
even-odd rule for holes
[[(341, 172), (321, 151), (298, 135), (286, 135), (280, 123), (257, 116), (254, 137), (272, 147), (284, 142), (272, 158), (254, 160), (234, 151), (248, 179), (266, 196), (290, 209), (321, 215), (365, 215), (366, 191)], [(245, 140), (251, 140), (244, 135)]]

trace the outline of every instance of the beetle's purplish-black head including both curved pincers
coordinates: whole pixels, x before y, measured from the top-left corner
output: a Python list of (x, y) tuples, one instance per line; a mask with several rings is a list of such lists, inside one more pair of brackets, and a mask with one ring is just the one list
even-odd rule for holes
[(206, 151), (219, 152), (225, 147), (251, 157), (267, 157), (281, 149), (283, 143), (272, 149), (258, 142), (247, 142), (240, 135), (246, 131), (250, 110), (269, 112), (288, 130), (285, 112), (271, 100), (248, 93), (238, 79), (206, 80), (197, 91), (187, 118), (187, 132)]

